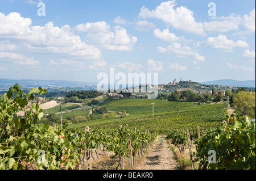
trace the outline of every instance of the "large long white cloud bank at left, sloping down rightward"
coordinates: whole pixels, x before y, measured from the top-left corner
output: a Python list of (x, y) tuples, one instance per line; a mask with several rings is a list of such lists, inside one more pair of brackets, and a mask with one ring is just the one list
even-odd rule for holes
[(23, 18), (17, 12), (8, 15), (0, 12), (0, 22), (0, 40), (9, 39), (10, 44), (20, 50), (26, 48), (32, 52), (79, 56), (84, 59), (101, 57), (100, 49), (81, 41), (78, 35), (71, 32), (69, 25), (59, 28), (49, 22), (46, 26), (31, 26), (31, 19)]

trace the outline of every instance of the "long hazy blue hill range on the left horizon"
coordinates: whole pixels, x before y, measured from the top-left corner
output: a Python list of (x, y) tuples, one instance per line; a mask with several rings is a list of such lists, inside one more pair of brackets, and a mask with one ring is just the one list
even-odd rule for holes
[(56, 87), (83, 87), (84, 89), (94, 90), (97, 83), (92, 82), (78, 82), (78, 81), (55, 81), (55, 80), (31, 80), (31, 79), (0, 79), (0, 89), (9, 89), (19, 83), (20, 87), (43, 87), (43, 88), (56, 88)]

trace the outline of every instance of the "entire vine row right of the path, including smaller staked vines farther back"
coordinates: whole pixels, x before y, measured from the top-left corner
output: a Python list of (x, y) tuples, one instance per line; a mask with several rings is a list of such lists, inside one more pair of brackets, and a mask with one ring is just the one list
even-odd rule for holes
[[(182, 155), (185, 145), (188, 146), (191, 169), (199, 162), (197, 169), (203, 170), (255, 170), (255, 121), (247, 117), (227, 117), (216, 129), (170, 131), (166, 139)], [(196, 146), (196, 153), (191, 151), (191, 142)]]

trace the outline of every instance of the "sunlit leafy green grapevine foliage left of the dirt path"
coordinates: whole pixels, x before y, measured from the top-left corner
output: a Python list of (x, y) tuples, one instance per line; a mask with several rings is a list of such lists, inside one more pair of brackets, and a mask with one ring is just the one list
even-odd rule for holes
[[(102, 144), (108, 145), (108, 150), (114, 151), (115, 155), (128, 153), (132, 133), (127, 126), (108, 133), (97, 129), (85, 133), (82, 129), (67, 129), (67, 121), (60, 130), (48, 124), (38, 124), (43, 113), (33, 102), (27, 115), (14, 116), (20, 108), (24, 110), (28, 100), (34, 99), (35, 92), (43, 94), (46, 90), (32, 89), (25, 94), (15, 85), (0, 99), (0, 169), (78, 169), (83, 150), (96, 149)], [(51, 117), (55, 117), (54, 114)], [(153, 138), (151, 134), (143, 135), (144, 144)], [(44, 157), (41, 157), (43, 153)]]

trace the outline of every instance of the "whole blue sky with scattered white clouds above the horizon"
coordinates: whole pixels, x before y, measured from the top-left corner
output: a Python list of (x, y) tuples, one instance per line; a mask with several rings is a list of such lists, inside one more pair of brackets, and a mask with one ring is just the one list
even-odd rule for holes
[(0, 78), (98, 82), (110, 68), (255, 79), (255, 2), (0, 0)]

